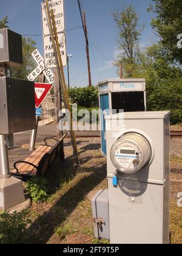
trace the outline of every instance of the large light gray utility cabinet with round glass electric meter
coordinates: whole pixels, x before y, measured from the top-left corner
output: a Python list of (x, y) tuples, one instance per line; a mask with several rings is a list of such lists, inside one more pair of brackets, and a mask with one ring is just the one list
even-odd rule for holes
[[(111, 243), (169, 243), (170, 112), (106, 116), (106, 127)], [(134, 144), (135, 137), (139, 142)]]

